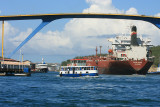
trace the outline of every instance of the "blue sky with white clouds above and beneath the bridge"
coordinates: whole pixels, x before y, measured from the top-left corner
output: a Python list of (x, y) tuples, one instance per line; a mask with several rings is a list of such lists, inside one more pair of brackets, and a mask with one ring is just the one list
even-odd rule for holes
[[(116, 13), (160, 17), (159, 3), (159, 0), (2, 0), (0, 16)], [(4, 56), (8, 56), (40, 23), (41, 20), (5, 21)], [(61, 63), (75, 56), (93, 55), (96, 46), (102, 46), (102, 53), (107, 53), (111, 45), (107, 38), (130, 34), (131, 25), (137, 26), (138, 35), (151, 38), (151, 43), (155, 46), (160, 45), (160, 30), (148, 22), (122, 19), (59, 19), (38, 32), (21, 48), (21, 53), (24, 60), (41, 62), (44, 58), (46, 63)], [(11, 58), (20, 60), (20, 57), (18, 51)]]

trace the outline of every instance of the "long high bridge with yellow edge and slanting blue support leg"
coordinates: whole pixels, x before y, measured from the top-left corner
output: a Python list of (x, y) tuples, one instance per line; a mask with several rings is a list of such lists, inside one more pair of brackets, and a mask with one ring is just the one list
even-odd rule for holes
[[(126, 15), (126, 14), (98, 14), (98, 13), (65, 13), (65, 14), (37, 14), (37, 15), (12, 15), (0, 16), (0, 21), (13, 21), (13, 20), (36, 20), (41, 19), (40, 25), (8, 56), (12, 57), (24, 44), (26, 44), (37, 32), (50, 22), (63, 19), (63, 18), (100, 18), (100, 19), (130, 19), (141, 20), (154, 24), (160, 29), (160, 17), (152, 17), (145, 15)], [(3, 49), (3, 28), (2, 24), (2, 49)], [(3, 50), (2, 50), (3, 53)], [(3, 54), (2, 54), (3, 57)]]

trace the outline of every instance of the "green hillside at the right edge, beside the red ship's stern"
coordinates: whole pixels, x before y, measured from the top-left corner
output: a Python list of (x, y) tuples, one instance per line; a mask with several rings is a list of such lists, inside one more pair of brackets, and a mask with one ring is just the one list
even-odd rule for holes
[(160, 46), (154, 46), (151, 48), (152, 55), (155, 56), (153, 65), (158, 66), (160, 62)]

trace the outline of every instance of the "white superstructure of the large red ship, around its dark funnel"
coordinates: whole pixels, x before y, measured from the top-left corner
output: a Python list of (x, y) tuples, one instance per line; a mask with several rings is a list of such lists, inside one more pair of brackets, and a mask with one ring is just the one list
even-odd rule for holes
[[(133, 32), (133, 36), (136, 33)], [(119, 58), (119, 60), (141, 60), (150, 58), (151, 39), (136, 37), (137, 45), (131, 44), (130, 35), (120, 35), (115, 38), (110, 38), (108, 41), (112, 42), (113, 56)]]

